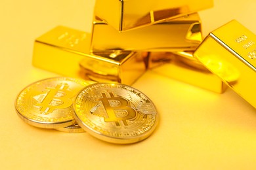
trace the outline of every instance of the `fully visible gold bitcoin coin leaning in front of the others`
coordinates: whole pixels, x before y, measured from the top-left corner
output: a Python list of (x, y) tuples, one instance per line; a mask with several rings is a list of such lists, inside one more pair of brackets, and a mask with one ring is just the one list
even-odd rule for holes
[(146, 95), (124, 84), (96, 83), (78, 93), (75, 120), (110, 143), (136, 143), (156, 128), (158, 112)]

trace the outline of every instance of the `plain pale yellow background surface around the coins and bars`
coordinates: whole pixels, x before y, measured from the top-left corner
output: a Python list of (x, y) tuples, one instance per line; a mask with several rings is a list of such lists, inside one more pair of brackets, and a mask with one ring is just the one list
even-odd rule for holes
[[(140, 143), (105, 143), (87, 133), (32, 127), (18, 118), (18, 92), (58, 76), (32, 66), (33, 40), (56, 25), (90, 31), (93, 5), (89, 0), (1, 0), (0, 168), (255, 169), (251, 105), (230, 89), (219, 95), (150, 71), (133, 87), (154, 101), (161, 119), (155, 133)], [(216, 0), (213, 9), (200, 12), (203, 34), (232, 19), (256, 33), (255, 9), (255, 0)]]

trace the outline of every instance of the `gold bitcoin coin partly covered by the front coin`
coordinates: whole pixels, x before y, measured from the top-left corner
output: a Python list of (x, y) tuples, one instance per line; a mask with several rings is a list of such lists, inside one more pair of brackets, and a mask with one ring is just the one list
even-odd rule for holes
[(24, 122), (43, 128), (71, 126), (75, 123), (73, 102), (77, 93), (95, 82), (57, 77), (30, 84), (15, 101)]

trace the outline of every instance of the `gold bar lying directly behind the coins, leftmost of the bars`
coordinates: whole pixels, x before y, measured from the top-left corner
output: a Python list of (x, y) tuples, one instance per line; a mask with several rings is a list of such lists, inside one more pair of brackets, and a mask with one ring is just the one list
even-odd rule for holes
[(89, 33), (55, 27), (35, 40), (32, 63), (64, 76), (129, 85), (146, 70), (142, 52), (114, 50), (90, 54), (90, 42)]

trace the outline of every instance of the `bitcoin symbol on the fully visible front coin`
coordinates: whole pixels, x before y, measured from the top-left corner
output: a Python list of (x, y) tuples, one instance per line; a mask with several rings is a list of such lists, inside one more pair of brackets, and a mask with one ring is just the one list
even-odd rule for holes
[(121, 121), (125, 126), (128, 126), (127, 120), (136, 117), (136, 110), (129, 106), (129, 102), (126, 99), (114, 97), (114, 94), (111, 92), (109, 95), (110, 97), (107, 97), (106, 93), (102, 93), (102, 98), (96, 99), (96, 101), (102, 102), (108, 114), (108, 118), (104, 118), (104, 121), (115, 122), (116, 126), (120, 126), (119, 121)]

